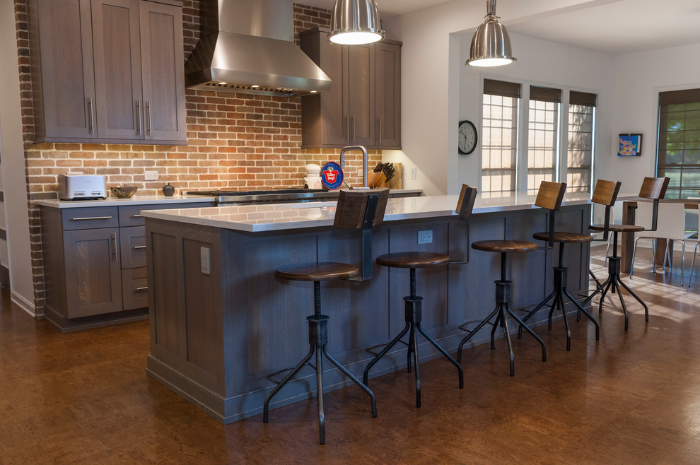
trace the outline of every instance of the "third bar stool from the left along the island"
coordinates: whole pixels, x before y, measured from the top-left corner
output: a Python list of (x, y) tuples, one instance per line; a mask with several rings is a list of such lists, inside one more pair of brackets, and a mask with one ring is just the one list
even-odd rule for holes
[[(565, 182), (548, 182), (542, 181), (539, 185), (539, 191), (537, 192), (537, 199), (535, 199), (535, 206), (540, 208), (549, 209), (549, 226), (547, 231), (554, 230), (554, 212), (559, 210), (561, 206), (561, 200), (564, 199), (564, 192), (566, 191)], [(554, 245), (554, 235), (549, 237), (549, 247), (552, 248)], [(542, 361), (547, 361), (547, 348), (544, 346), (544, 341), (535, 334), (527, 325), (523, 322), (518, 315), (513, 313), (511, 310), (511, 284), (506, 276), (506, 256), (509, 253), (525, 253), (534, 252), (539, 247), (533, 242), (521, 241), (521, 240), (479, 240), (477, 242), (472, 242), (472, 249), (482, 250), (484, 252), (496, 252), (501, 254), (501, 279), (494, 281), (496, 283), (496, 308), (493, 312), (489, 314), (488, 317), (484, 318), (482, 322), (477, 324), (474, 329), (467, 329), (467, 325), (474, 322), (466, 322), (460, 326), (460, 329), (467, 331), (467, 336), (460, 342), (459, 348), (457, 348), (457, 361), (462, 361), (462, 350), (465, 343), (472, 339), (474, 334), (477, 334), (479, 329), (482, 329), (484, 325), (491, 324), (491, 348), (496, 348), (496, 327), (500, 324), (503, 327), (503, 335), (506, 339), (506, 344), (508, 345), (508, 355), (511, 358), (511, 376), (515, 375), (515, 355), (513, 355), (513, 342), (511, 341), (511, 331), (508, 329), (508, 316), (518, 322), (519, 327), (525, 328), (525, 331), (530, 334), (539, 345), (542, 346)], [(494, 322), (491, 323), (491, 319)]]

